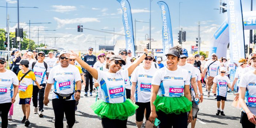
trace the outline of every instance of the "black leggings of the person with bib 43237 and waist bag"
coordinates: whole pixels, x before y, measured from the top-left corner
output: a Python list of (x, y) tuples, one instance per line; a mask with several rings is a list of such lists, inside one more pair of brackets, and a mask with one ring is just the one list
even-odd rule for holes
[(64, 113), (69, 128), (75, 124), (75, 100), (52, 99), (52, 106), (55, 116), (55, 128), (63, 128)]

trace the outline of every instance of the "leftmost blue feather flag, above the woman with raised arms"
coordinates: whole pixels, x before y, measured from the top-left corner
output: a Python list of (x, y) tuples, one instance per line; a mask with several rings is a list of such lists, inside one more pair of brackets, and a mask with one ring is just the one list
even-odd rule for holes
[(131, 7), (127, 0), (117, 0), (117, 1), (121, 4), (122, 10), (123, 10), (123, 23), (124, 23), (124, 31), (125, 31), (126, 49), (131, 50), (133, 56), (135, 56)]

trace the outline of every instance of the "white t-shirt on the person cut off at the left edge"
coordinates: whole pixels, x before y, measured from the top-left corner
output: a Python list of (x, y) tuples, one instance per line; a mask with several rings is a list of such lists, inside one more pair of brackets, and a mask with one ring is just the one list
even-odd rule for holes
[(14, 72), (6, 70), (0, 72), (0, 103), (12, 102), (14, 85), (19, 85), (19, 80)]

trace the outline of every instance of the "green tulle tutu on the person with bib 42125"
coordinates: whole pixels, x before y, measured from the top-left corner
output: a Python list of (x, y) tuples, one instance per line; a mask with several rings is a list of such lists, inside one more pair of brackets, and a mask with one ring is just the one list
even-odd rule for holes
[(192, 108), (192, 102), (186, 97), (159, 97), (153, 102), (156, 111), (163, 111), (166, 114), (175, 113), (185, 113), (189, 112)]

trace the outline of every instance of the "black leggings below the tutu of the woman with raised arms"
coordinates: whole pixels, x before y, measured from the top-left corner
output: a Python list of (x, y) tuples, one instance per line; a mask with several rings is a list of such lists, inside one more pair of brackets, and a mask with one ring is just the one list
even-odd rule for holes
[(127, 119), (126, 120), (118, 120), (118, 119), (110, 119), (110, 118), (101, 118), (101, 124), (103, 128), (127, 128)]

